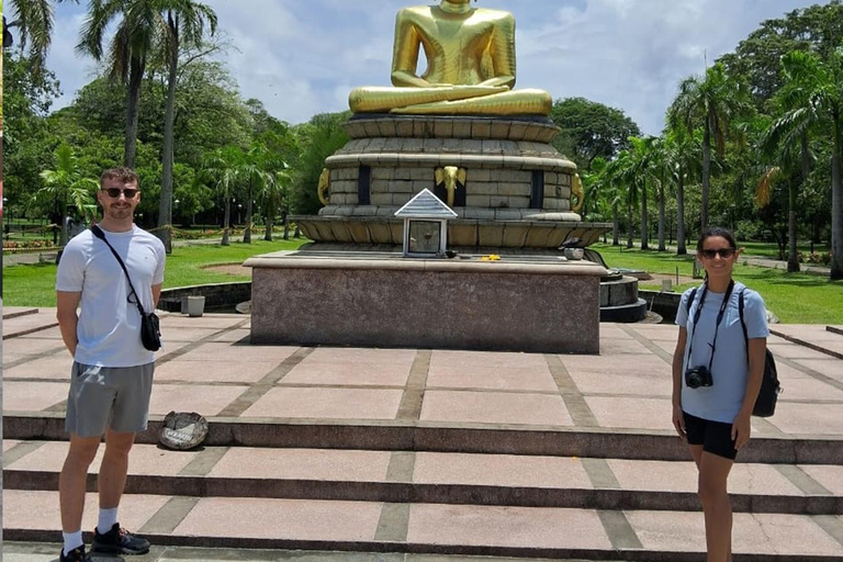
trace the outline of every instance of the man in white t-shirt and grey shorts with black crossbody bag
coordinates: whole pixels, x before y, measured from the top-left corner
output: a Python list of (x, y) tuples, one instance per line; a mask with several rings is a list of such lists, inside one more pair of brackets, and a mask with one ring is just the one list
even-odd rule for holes
[[(151, 312), (161, 292), (165, 250), (158, 238), (133, 222), (140, 202), (137, 175), (128, 168), (105, 170), (97, 200), (102, 206), (99, 226), (123, 259), (144, 310)], [(115, 554), (149, 550), (147, 540), (117, 522), (128, 451), (135, 434), (146, 429), (155, 368), (155, 352), (140, 342), (140, 314), (130, 293), (126, 274), (103, 240), (85, 231), (68, 243), (56, 276), (58, 325), (74, 356), (65, 424), (70, 448), (58, 484), (60, 562), (91, 560), (82, 542), (82, 510), (88, 467), (103, 435), (100, 516), (92, 550)]]

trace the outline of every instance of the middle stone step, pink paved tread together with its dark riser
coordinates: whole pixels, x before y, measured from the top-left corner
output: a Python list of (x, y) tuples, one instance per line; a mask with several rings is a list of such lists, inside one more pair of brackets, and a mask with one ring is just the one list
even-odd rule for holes
[[(3, 486), (58, 490), (67, 443), (3, 442)], [(89, 491), (97, 490), (91, 465)], [(127, 493), (468, 504), (595, 509), (699, 510), (689, 461), (572, 457), (137, 445)], [(843, 467), (738, 463), (735, 512), (843, 515)]]

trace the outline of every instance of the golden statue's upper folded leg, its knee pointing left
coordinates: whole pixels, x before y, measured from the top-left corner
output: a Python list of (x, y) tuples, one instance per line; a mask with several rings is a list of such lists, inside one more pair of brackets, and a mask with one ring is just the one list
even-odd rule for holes
[(453, 86), (442, 88), (355, 88), (348, 95), (348, 105), (353, 113), (389, 112), (406, 105), (418, 105), (437, 101), (464, 100), (505, 92), (506, 87)]

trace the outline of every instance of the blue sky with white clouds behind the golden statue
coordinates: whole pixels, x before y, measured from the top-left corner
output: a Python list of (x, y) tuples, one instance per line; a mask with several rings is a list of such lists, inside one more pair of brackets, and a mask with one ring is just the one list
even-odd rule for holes
[[(278, 119), (301, 123), (348, 106), (356, 86), (390, 80), (394, 19), (413, 0), (205, 0), (231, 47), (223, 55), (240, 93)], [(517, 22), (517, 87), (554, 99), (584, 97), (623, 110), (659, 134), (684, 77), (700, 74), (764, 20), (807, 0), (481, 0)], [(72, 100), (95, 74), (75, 54), (83, 4), (56, 8), (47, 66)]]

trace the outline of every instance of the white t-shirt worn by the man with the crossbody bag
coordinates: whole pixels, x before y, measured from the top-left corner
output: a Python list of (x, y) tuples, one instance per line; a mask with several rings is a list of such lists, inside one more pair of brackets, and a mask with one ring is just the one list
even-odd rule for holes
[[(151, 312), (151, 288), (164, 281), (164, 244), (135, 225), (125, 233), (103, 233), (126, 265), (144, 311)], [(77, 362), (135, 367), (155, 361), (155, 352), (140, 342), (140, 313), (127, 300), (126, 276), (108, 245), (90, 229), (67, 243), (56, 291), (81, 293)]]

